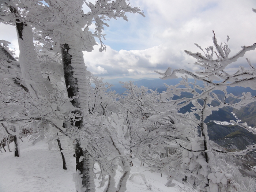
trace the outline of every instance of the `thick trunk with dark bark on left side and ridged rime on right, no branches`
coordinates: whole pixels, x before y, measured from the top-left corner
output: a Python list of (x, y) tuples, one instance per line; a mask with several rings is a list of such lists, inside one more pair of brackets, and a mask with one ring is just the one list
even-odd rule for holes
[[(87, 71), (83, 61), (83, 53), (74, 48), (72, 49), (69, 44), (61, 44), (60, 48), (68, 97), (72, 98), (72, 105), (75, 108), (79, 108), (79, 110), (73, 111), (75, 119), (71, 123), (81, 129), (85, 115), (83, 112), (88, 112)], [(83, 112), (80, 109), (84, 109)], [(76, 187), (82, 186), (82, 188), (76, 190), (94, 192), (93, 159), (86, 150), (82, 149), (79, 138), (76, 138), (75, 141), (76, 173), (79, 174), (76, 182), (80, 182), (80, 178), (82, 179), (82, 184), (76, 184)]]

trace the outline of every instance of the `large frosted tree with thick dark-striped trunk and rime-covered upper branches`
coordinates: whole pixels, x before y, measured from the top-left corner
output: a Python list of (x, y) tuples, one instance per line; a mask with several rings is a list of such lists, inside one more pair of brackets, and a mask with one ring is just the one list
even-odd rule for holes
[[(53, 37), (54, 44), (60, 45), (68, 97), (72, 98), (72, 105), (77, 108), (77, 110), (74, 110), (74, 121), (72, 123), (78, 130), (81, 130), (86, 123), (88, 111), (87, 70), (84, 65), (82, 50), (91, 51), (93, 49), (93, 45), (96, 45), (94, 37), (97, 37), (101, 42), (101, 33), (103, 25), (107, 25), (104, 22), (107, 17), (123, 17), (126, 19), (125, 12), (140, 12), (140, 10), (127, 5), (124, 0), (112, 1), (112, 3), (98, 0), (95, 4), (85, 1), (85, 4), (91, 10), (87, 14), (82, 11), (84, 1), (62, 1), (59, 4), (59, 2), (49, 0), (46, 3), (49, 5), (49, 7), (45, 7), (46, 12), (52, 15), (49, 17), (48, 28), (44, 31), (48, 32), (50, 30), (49, 36)], [(94, 33), (89, 30), (93, 21), (96, 25)], [(104, 46), (101, 42), (101, 51), (103, 49)], [(82, 148), (80, 138), (78, 137), (75, 140), (76, 188), (78, 191), (94, 191), (93, 159), (87, 146)], [(83, 157), (82, 161), (80, 160), (81, 157)], [(82, 178), (82, 185), (80, 184), (80, 177)]]

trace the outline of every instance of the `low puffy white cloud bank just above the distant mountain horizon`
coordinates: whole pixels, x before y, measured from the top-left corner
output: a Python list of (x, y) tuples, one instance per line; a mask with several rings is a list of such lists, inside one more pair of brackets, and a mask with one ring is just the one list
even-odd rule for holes
[[(172, 52), (174, 54), (172, 54)], [(109, 46), (105, 52), (99, 53), (97, 48), (93, 52), (84, 52), (85, 63), (88, 70), (98, 74), (95, 67), (101, 67), (107, 73), (104, 76), (145, 76), (155, 74), (154, 70), (164, 71), (169, 66), (180, 68), (188, 61), (185, 52), (175, 52), (165, 45), (155, 46), (146, 50), (120, 50), (119, 52)], [(186, 61), (185, 61), (186, 60)], [(192, 62), (192, 60), (191, 60)]]

